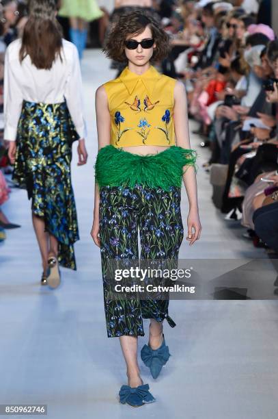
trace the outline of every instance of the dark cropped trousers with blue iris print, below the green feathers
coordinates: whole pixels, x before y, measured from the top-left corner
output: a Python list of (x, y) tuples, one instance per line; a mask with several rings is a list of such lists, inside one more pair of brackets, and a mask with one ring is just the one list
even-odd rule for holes
[(176, 326), (168, 314), (169, 299), (111, 298), (107, 265), (111, 259), (177, 260), (184, 236), (180, 194), (177, 186), (169, 190), (139, 183), (100, 186), (100, 255), (109, 338), (145, 335), (143, 318), (158, 322), (166, 318), (171, 327)]

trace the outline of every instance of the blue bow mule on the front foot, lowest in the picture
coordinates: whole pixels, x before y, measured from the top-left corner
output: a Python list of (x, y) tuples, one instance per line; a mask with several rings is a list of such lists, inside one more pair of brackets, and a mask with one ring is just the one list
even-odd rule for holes
[(148, 403), (153, 403), (156, 401), (154, 396), (149, 392), (148, 384), (141, 384), (137, 387), (130, 387), (130, 385), (122, 385), (120, 388), (119, 396), (120, 403), (123, 405), (127, 403), (133, 407), (139, 407), (146, 405)]

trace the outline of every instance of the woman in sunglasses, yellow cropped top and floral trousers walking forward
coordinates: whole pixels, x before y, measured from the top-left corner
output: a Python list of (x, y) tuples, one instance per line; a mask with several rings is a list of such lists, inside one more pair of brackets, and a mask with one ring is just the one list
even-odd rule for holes
[[(189, 198), (187, 218), (190, 244), (199, 239), (197, 153), (189, 142), (186, 94), (180, 81), (161, 75), (151, 62), (162, 60), (169, 38), (147, 14), (121, 16), (105, 51), (126, 62), (120, 77), (96, 90), (98, 155), (95, 164), (95, 207), (91, 235), (100, 247), (107, 336), (119, 337), (128, 385), (120, 388), (120, 402), (141, 406), (155, 401), (143, 384), (137, 362), (138, 336), (145, 335), (143, 318), (150, 318), (148, 345), (141, 358), (158, 377), (169, 359), (163, 320), (169, 299), (115, 298), (109, 283), (111, 259), (124, 263), (178, 259), (184, 236), (180, 212), (182, 178)], [(175, 139), (176, 138), (176, 139)]]

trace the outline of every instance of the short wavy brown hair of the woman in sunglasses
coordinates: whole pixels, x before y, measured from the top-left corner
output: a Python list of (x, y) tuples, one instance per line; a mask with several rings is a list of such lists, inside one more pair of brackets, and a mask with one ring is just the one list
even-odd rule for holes
[(156, 48), (154, 49), (151, 61), (157, 62), (163, 60), (163, 58), (167, 57), (171, 49), (169, 35), (155, 18), (144, 11), (122, 14), (109, 32), (102, 52), (112, 60), (128, 62), (124, 52), (124, 41), (126, 37), (128, 35), (141, 34), (147, 26), (150, 27), (152, 37), (154, 38), (154, 42), (156, 42)]

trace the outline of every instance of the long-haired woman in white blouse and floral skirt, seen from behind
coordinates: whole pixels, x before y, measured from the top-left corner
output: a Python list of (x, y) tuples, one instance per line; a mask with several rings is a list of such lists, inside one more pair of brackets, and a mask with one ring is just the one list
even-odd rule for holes
[(23, 39), (5, 53), (4, 139), (12, 179), (27, 188), (42, 256), (42, 285), (56, 288), (59, 264), (76, 270), (79, 240), (72, 190), (72, 142), (87, 162), (82, 80), (77, 48), (64, 40), (55, 0), (31, 0)]

